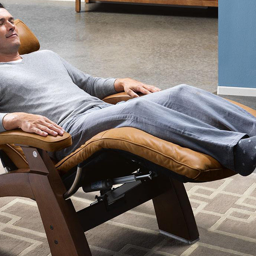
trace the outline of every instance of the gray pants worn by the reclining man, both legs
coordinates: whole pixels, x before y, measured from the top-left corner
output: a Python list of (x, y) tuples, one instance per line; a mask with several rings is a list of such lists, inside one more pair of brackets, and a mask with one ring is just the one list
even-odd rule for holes
[(102, 102), (62, 127), (72, 135), (73, 145), (57, 151), (58, 160), (99, 132), (134, 127), (211, 155), (234, 170), (234, 145), (243, 137), (256, 135), (256, 117), (213, 93), (181, 84), (116, 105)]

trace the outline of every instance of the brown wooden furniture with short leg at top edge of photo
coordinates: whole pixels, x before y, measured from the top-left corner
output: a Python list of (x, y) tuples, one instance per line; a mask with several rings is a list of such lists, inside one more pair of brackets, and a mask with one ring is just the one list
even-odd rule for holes
[[(101, 1), (101, 0), (100, 0)], [(85, 0), (85, 3), (90, 3), (92, 0)], [(143, 3), (143, 4), (174, 4), (174, 5), (189, 5), (189, 6), (218, 6), (218, 0), (102, 0), (102, 3), (117, 2), (117, 3)], [(81, 0), (76, 0), (76, 12), (81, 10)]]

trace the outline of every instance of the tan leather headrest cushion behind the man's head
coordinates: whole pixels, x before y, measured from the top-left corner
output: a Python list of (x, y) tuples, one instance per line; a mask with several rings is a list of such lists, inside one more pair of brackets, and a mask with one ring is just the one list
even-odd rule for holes
[(18, 28), (20, 37), (19, 54), (27, 54), (39, 50), (40, 45), (36, 36), (21, 20), (14, 20), (14, 24)]

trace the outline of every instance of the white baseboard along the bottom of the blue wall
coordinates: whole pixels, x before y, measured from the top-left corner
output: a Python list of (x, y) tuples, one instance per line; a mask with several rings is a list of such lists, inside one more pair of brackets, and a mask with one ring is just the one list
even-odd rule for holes
[(218, 86), (217, 94), (256, 97), (256, 88)]

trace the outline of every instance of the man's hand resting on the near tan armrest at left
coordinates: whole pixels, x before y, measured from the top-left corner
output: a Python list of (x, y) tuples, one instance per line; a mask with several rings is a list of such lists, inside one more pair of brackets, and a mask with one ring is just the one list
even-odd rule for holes
[(6, 130), (21, 128), (25, 132), (47, 136), (63, 135), (65, 130), (55, 122), (42, 115), (34, 115), (25, 112), (9, 113), (3, 118), (3, 127)]

